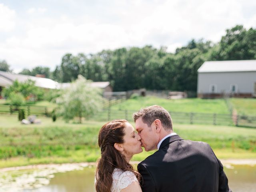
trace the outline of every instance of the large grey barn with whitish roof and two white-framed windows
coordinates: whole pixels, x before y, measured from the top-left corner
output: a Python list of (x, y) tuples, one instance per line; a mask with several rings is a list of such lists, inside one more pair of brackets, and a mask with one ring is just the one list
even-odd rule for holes
[(206, 61), (198, 69), (197, 96), (256, 96), (256, 60)]

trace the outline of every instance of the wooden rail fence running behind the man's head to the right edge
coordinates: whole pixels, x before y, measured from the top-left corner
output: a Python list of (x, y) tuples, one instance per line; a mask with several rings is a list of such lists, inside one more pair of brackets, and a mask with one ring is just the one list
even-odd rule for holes
[[(112, 119), (126, 119), (133, 121), (133, 110), (112, 110), (105, 108), (102, 112), (90, 117), (95, 121), (110, 121)], [(210, 113), (188, 113), (188, 112), (169, 112), (174, 123), (184, 124), (212, 124), (212, 125), (235, 125), (256, 127), (256, 116), (237, 116), (234, 123), (232, 114), (210, 114)]]

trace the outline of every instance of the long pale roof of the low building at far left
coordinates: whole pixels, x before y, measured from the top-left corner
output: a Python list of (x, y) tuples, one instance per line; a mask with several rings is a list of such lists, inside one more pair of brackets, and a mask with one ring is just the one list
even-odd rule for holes
[(10, 72), (0, 71), (0, 85), (3, 84), (3, 86), (5, 82), (8, 82), (8, 84), (5, 85), (7, 86), (12, 84), (12, 82), (14, 82), (15, 80), (18, 80), (19, 82), (24, 82), (28, 79), (35, 81), (35, 85), (41, 88), (56, 89), (58, 87), (58, 82), (48, 78), (13, 74)]

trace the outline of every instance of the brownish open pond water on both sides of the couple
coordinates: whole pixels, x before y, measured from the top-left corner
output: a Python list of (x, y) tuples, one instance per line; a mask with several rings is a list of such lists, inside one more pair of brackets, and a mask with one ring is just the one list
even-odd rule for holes
[[(227, 168), (228, 167), (228, 168)], [(229, 186), (234, 192), (254, 192), (256, 166), (234, 165), (224, 168)], [(48, 186), (24, 192), (93, 192), (95, 168), (57, 173)]]

